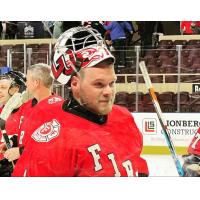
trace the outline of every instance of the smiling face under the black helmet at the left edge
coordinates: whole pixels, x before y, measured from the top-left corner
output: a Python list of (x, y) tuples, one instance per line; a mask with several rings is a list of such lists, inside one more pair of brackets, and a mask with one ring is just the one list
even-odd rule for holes
[(2, 79), (0, 80), (0, 104), (5, 105), (9, 100), (10, 95), (8, 89), (10, 88), (11, 80)]

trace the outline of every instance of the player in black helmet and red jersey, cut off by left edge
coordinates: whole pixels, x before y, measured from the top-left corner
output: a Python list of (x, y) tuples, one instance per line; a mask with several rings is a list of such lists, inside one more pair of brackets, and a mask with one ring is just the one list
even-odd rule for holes
[[(6, 129), (7, 134), (11, 138), (12, 147), (17, 146), (17, 121), (20, 119), (18, 112), (21, 106), (21, 93), (26, 89), (26, 78), (21, 72), (10, 71), (0, 76), (0, 128)], [(6, 123), (5, 123), (6, 122)], [(7, 159), (3, 158), (3, 153), (7, 147), (5, 139), (7, 134), (2, 134), (0, 131), (0, 176), (10, 176), (12, 172), (12, 165)]]

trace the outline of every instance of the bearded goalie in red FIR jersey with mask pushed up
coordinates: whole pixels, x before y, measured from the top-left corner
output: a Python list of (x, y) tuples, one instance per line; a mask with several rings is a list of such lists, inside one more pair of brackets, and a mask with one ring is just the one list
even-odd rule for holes
[(102, 40), (85, 27), (60, 36), (52, 73), (71, 86), (72, 96), (62, 107), (32, 112), (32, 121), (39, 121), (34, 128), (29, 123), (29, 141), (13, 176), (148, 175), (140, 157), (142, 134), (132, 115), (113, 105), (115, 59)]

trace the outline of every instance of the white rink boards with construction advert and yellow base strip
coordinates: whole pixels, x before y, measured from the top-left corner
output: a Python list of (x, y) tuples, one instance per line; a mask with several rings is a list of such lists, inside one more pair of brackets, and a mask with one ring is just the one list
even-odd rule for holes
[[(132, 113), (143, 134), (143, 154), (169, 154), (156, 113)], [(200, 127), (199, 113), (163, 113), (178, 154), (187, 153), (187, 147)]]

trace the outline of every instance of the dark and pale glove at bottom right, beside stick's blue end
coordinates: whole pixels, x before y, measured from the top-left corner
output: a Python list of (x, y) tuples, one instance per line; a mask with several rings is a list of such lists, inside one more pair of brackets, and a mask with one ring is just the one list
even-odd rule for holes
[(183, 155), (185, 176), (200, 177), (200, 157), (194, 154)]

